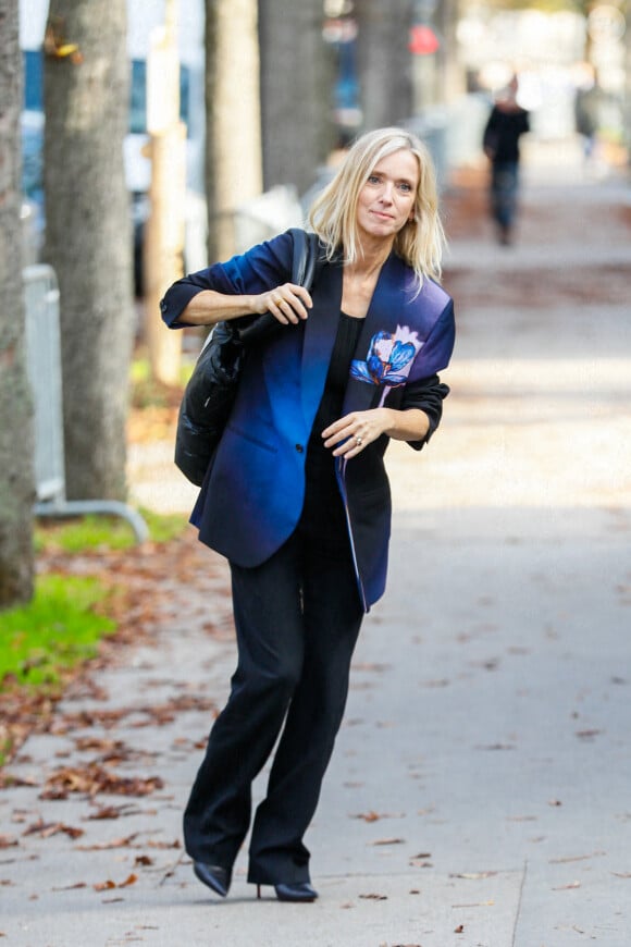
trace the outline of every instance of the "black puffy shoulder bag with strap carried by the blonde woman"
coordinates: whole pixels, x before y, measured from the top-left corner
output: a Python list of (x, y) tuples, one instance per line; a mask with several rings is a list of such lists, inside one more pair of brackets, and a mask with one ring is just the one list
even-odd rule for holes
[[(311, 288), (318, 258), (318, 236), (293, 227), (292, 282)], [(184, 391), (177, 431), (175, 464), (200, 487), (236, 396), (245, 352), (283, 327), (272, 316), (246, 316), (218, 322), (208, 336)]]

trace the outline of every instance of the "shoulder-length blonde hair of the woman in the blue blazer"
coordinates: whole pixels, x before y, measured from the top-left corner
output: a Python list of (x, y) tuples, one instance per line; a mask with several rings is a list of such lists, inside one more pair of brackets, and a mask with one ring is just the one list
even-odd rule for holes
[(410, 151), (419, 164), (419, 183), (413, 220), (397, 233), (395, 253), (415, 271), (419, 284), (423, 276), (441, 279), (445, 232), (438, 216), (436, 173), (425, 145), (404, 128), (378, 128), (361, 135), (350, 147), (333, 181), (316, 198), (309, 223), (326, 244), (327, 259), (344, 249), (346, 262), (360, 255), (357, 231), (357, 202), (368, 177), (379, 162), (395, 151)]

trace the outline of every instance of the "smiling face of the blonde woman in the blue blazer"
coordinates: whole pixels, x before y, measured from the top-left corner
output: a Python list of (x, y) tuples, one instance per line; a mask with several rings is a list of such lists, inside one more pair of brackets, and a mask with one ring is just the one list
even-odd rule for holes
[(413, 217), (418, 183), (419, 164), (411, 151), (403, 148), (382, 158), (359, 192), (360, 235), (393, 241)]

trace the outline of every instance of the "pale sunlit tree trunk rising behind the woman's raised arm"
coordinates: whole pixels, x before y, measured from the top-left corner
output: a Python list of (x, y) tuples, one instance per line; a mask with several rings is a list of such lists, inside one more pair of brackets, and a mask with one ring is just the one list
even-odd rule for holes
[(262, 189), (256, 0), (206, 0), (208, 256), (236, 249), (237, 208)]

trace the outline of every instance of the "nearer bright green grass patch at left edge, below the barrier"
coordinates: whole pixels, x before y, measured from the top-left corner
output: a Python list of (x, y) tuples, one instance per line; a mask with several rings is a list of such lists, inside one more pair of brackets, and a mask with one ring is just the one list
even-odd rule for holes
[(7, 679), (57, 685), (63, 668), (94, 657), (99, 640), (116, 630), (96, 611), (109, 594), (96, 578), (41, 576), (33, 602), (0, 615), (0, 689)]

